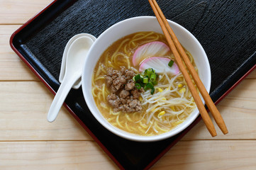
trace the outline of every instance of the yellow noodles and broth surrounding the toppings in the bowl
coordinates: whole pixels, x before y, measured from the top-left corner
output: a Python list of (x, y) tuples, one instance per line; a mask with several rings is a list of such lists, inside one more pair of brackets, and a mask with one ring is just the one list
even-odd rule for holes
[[(140, 45), (144, 45), (145, 43), (152, 41), (160, 41), (167, 44), (165, 36), (155, 32), (133, 33), (121, 38), (120, 40), (117, 40), (116, 42), (113, 42), (113, 44), (108, 47), (99, 58), (99, 61), (94, 68), (94, 73), (92, 76), (91, 93), (94, 96), (94, 101), (96, 103), (96, 106), (99, 108), (101, 114), (104, 116), (104, 118), (106, 118), (106, 120), (108, 120), (109, 123), (111, 123), (111, 125), (116, 126), (121, 130), (125, 130), (126, 132), (133, 133), (135, 135), (150, 136), (160, 135), (164, 132), (168, 132), (180, 123), (184, 122), (184, 120), (186, 120), (186, 118), (192, 111), (194, 111), (195, 108), (195, 104), (192, 102), (193, 98), (191, 98), (191, 94), (187, 89), (186, 82), (184, 81), (184, 78), (181, 74), (175, 79), (172, 87), (169, 87), (169, 90), (177, 89), (177, 91), (174, 91), (171, 95), (167, 96), (167, 98), (171, 100), (172, 98), (180, 97), (182, 89), (185, 89), (186, 92), (184, 93), (186, 93), (187, 95), (185, 99), (190, 102), (189, 105), (186, 105), (186, 107), (181, 105), (173, 106), (172, 104), (167, 103), (168, 108), (160, 108), (160, 106), (156, 106), (150, 111), (147, 111), (148, 107), (154, 106), (151, 106), (150, 104), (145, 104), (143, 105), (143, 110), (140, 112), (113, 112), (113, 108), (111, 108), (107, 101), (107, 96), (111, 92), (106, 87), (105, 83), (106, 70), (108, 69), (108, 67), (113, 67), (113, 69), (120, 70), (120, 67), (124, 66), (126, 67), (126, 69), (133, 69), (136, 74), (139, 73), (139, 66), (134, 67), (132, 63), (133, 54), (135, 50), (140, 47)], [(187, 55), (190, 57), (192, 64), (194, 64), (193, 57), (191, 57), (189, 52), (187, 52)], [(169, 57), (170, 59), (174, 60), (172, 52), (169, 52), (165, 57)], [(166, 75), (163, 75), (162, 77), (165, 76)], [(173, 77), (172, 75), (167, 76), (169, 77), (169, 79), (172, 79)], [(160, 94), (161, 90), (166, 89), (161, 88), (161, 86), (164, 87), (168, 84), (169, 82), (167, 81), (167, 79), (160, 79), (159, 83), (157, 84), (157, 86), (159, 85), (160, 88), (156, 88), (157, 90), (155, 91), (155, 94), (158, 92)], [(143, 98), (140, 98), (140, 101), (142, 103), (143, 100)], [(158, 111), (153, 113), (154, 109), (158, 109)], [(170, 112), (178, 113), (178, 111), (182, 111), (183, 109), (184, 112), (179, 113), (178, 115), (165, 114), (161, 115), (160, 118), (158, 118), (162, 111), (168, 110)], [(150, 114), (152, 114), (153, 116), (149, 120)]]

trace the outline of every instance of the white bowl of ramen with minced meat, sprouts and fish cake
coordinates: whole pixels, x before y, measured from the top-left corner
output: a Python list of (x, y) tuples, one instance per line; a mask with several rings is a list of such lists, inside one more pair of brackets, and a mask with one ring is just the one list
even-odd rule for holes
[[(211, 69), (203, 47), (188, 30), (168, 22), (209, 91)], [(84, 63), (82, 91), (96, 120), (127, 140), (164, 140), (199, 115), (153, 16), (128, 18), (97, 38)]]

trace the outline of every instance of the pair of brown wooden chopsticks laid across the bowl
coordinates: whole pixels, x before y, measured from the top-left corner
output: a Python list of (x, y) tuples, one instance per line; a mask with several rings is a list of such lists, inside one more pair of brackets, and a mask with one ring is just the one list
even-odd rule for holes
[[(155, 0), (148, 0), (148, 1), (150, 2), (150, 6), (152, 7), (152, 10), (154, 11), (155, 16), (157, 17), (157, 21), (160, 23), (162, 32), (165, 34), (165, 38), (167, 39), (169, 47), (174, 54), (176, 64), (178, 65), (180, 71), (182, 72), (182, 74), (184, 76), (184, 79), (187, 82), (187, 85), (189, 86), (189, 90), (194, 98), (194, 101), (196, 102), (197, 108), (199, 108), (201, 118), (204, 120), (206, 128), (211, 133), (212, 137), (215, 137), (217, 135), (216, 130), (213, 125), (213, 122), (211, 121), (211, 118), (208, 115), (206, 108), (204, 107), (204, 103), (201, 101), (201, 98), (196, 91), (196, 87), (194, 86), (193, 82), (191, 81), (191, 79), (189, 77), (189, 73), (193, 77), (194, 82), (196, 83), (196, 86), (199, 89), (201, 96), (203, 96), (204, 101), (206, 102), (208, 109), (211, 111), (211, 114), (213, 115), (213, 118), (216, 121), (218, 127), (221, 129), (223, 134), (226, 135), (228, 133), (228, 129), (226, 128), (224, 120), (221, 117), (221, 113), (219, 113), (215, 104), (211, 100), (210, 95), (208, 94), (208, 92), (206, 91), (206, 89), (204, 87), (204, 84), (202, 83), (201, 79), (199, 78), (198, 74), (196, 73), (196, 70), (194, 69), (193, 65), (191, 64), (189, 57), (187, 57), (186, 52), (184, 51), (182, 45), (179, 43), (179, 40), (177, 39), (176, 35), (174, 34), (172, 28), (169, 26), (169, 23), (167, 22), (160, 7), (158, 6), (158, 4)], [(182, 58), (179, 54), (182, 56)], [(187, 72), (187, 69), (184, 66), (184, 63), (182, 62), (182, 59), (183, 59), (184, 63), (186, 64), (187, 69), (189, 70), (189, 73)]]

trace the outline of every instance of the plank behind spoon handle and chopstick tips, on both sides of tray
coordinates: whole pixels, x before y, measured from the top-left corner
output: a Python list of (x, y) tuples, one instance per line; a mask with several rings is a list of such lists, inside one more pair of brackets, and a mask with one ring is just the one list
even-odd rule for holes
[[(212, 138), (200, 122), (183, 140), (256, 139), (255, 84), (255, 79), (245, 79), (218, 104), (228, 135), (216, 126), (218, 136)], [(54, 123), (47, 122), (53, 95), (40, 81), (0, 82), (0, 92), (1, 140), (91, 140), (65, 108)]]

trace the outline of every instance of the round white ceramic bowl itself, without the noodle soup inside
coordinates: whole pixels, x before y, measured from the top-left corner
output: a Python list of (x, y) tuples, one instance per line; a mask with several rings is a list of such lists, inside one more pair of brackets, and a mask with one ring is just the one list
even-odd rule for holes
[[(194, 57), (196, 62), (196, 66), (199, 69), (199, 77), (201, 81), (206, 86), (206, 90), (210, 90), (211, 86), (211, 69), (208, 63), (208, 58), (206, 53), (204, 52), (203, 47), (199, 43), (198, 40), (189, 33), (188, 30), (179, 26), (179, 24), (174, 23), (173, 21), (168, 21), (169, 25), (174, 30), (174, 33), (177, 35), (179, 42), (189, 51), (191, 55)], [(96, 39), (94, 45), (91, 46), (91, 49), (88, 52), (87, 59), (84, 63), (84, 69), (82, 72), (82, 90), (84, 94), (85, 101), (87, 102), (87, 106), (89, 110), (94, 115), (96, 120), (101, 123), (106, 129), (110, 130), (114, 134), (124, 137), (128, 140), (134, 140), (138, 142), (153, 142), (157, 140), (164, 140), (167, 137), (172, 137), (177, 135), (177, 133), (182, 132), (185, 128), (187, 128), (199, 115), (198, 109), (196, 109), (189, 118), (187, 118), (184, 123), (177, 126), (173, 130), (166, 132), (162, 135), (155, 136), (140, 136), (133, 135), (123, 130), (120, 130), (110, 123), (106, 121), (106, 119), (101, 115), (96, 104), (94, 103), (94, 98), (91, 94), (91, 75), (94, 71), (94, 67), (96, 62), (99, 60), (99, 57), (107, 49), (113, 42), (123, 38), (126, 35), (131, 33), (136, 33), (140, 31), (155, 31), (157, 33), (162, 33), (159, 23), (157, 19), (153, 16), (139, 16), (135, 18), (129, 18), (119, 23), (114, 24), (110, 28), (104, 31), (99, 38)]]

